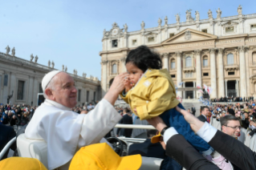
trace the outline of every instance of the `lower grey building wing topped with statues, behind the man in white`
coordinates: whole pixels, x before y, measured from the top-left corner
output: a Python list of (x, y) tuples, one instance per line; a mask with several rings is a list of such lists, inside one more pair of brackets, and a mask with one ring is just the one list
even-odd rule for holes
[[(6, 54), (0, 52), (0, 103), (6, 104), (7, 99), (10, 98), (10, 104), (37, 105), (39, 93), (43, 93), (41, 85), (43, 76), (49, 71), (56, 70), (55, 63), (49, 61), (48, 66), (43, 66), (37, 63), (37, 56), (35, 61), (33, 56), (30, 56), (31, 59), (28, 61), (14, 56), (14, 53), (9, 55), (9, 51), (6, 50)], [(77, 75), (77, 71), (74, 71), (74, 74), (68, 74), (75, 80), (78, 91), (77, 105), (82, 106), (101, 99), (98, 79), (92, 76), (86, 78), (84, 73), (81, 77)]]

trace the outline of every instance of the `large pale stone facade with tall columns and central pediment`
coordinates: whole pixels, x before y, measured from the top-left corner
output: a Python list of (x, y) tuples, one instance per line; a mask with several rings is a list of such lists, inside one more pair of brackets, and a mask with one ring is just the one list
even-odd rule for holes
[(124, 66), (128, 52), (145, 45), (161, 54), (163, 68), (169, 70), (178, 87), (177, 95), (183, 99), (197, 99), (202, 94), (197, 85), (213, 89), (210, 98), (224, 96), (256, 96), (256, 14), (242, 14), (221, 18), (221, 10), (213, 18), (200, 19), (196, 11), (186, 11), (186, 22), (168, 24), (168, 18), (158, 26), (128, 32), (128, 26), (120, 29), (115, 23), (104, 30), (101, 85), (102, 93), (108, 91), (112, 79), (126, 71)]

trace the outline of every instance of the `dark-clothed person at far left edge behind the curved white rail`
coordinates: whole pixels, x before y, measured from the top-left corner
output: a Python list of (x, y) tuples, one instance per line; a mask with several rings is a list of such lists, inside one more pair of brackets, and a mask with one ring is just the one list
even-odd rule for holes
[[(14, 128), (10, 126), (6, 126), (3, 124), (0, 124), (0, 152), (2, 149), (6, 146), (6, 144), (12, 140), (16, 136), (16, 132), (14, 132)], [(16, 143), (12, 144), (10, 148), (15, 151), (16, 149)], [(7, 158), (9, 150), (2, 156), (1, 160), (4, 160)]]

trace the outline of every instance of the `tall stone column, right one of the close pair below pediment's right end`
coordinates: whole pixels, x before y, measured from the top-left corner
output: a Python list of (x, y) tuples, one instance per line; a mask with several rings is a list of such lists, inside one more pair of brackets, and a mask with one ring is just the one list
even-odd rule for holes
[(223, 66), (223, 49), (219, 48), (217, 53), (217, 75), (218, 75), (218, 98), (223, 97), (225, 95), (224, 90), (224, 66)]

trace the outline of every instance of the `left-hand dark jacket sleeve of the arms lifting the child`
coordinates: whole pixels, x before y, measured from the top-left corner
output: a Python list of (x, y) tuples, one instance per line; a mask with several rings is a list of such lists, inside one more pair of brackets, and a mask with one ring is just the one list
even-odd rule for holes
[(199, 152), (185, 138), (179, 134), (172, 136), (166, 144), (166, 155), (176, 160), (181, 166), (189, 170), (219, 170), (217, 166)]

